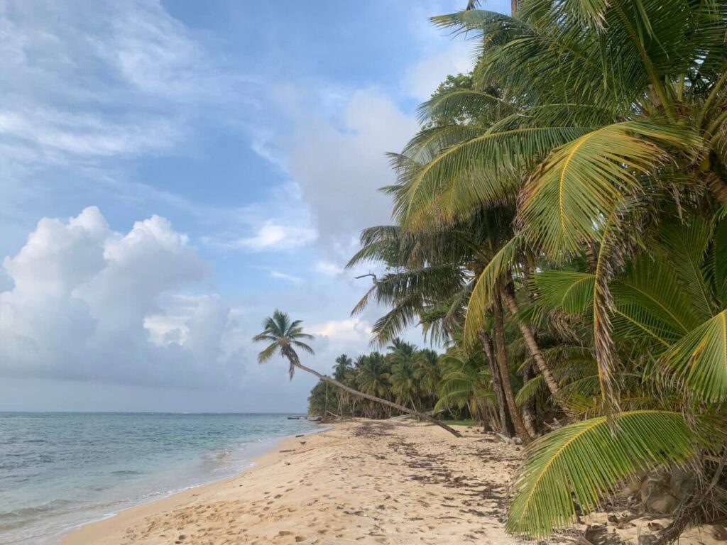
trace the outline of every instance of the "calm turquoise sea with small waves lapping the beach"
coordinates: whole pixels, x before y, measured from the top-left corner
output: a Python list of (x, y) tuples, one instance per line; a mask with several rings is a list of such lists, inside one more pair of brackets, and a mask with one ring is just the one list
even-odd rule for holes
[(0, 544), (55, 543), (119, 509), (228, 477), (316, 424), (280, 414), (0, 413)]

